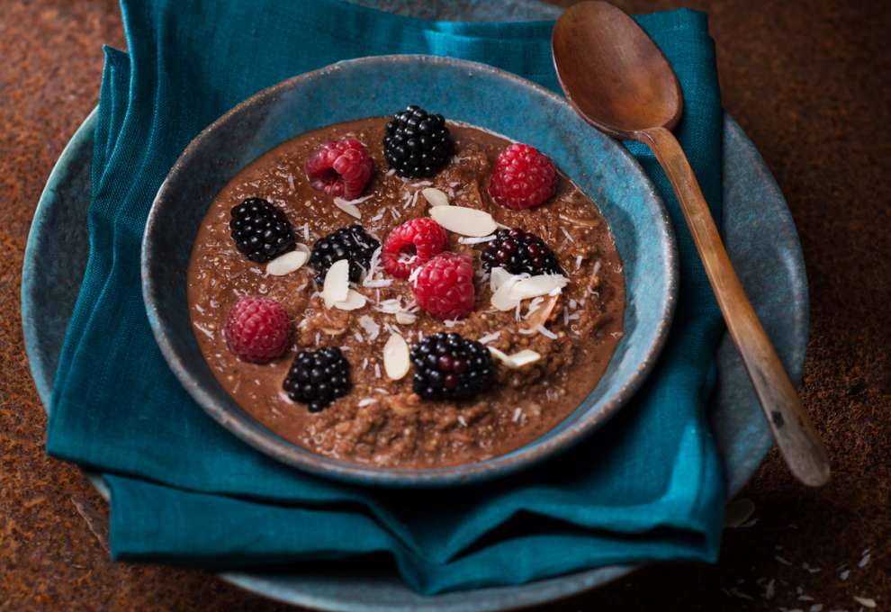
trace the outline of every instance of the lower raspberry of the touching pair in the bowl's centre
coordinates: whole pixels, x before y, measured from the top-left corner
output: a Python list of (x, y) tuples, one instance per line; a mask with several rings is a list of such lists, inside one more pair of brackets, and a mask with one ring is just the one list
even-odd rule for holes
[(440, 253), (412, 273), (411, 290), (418, 305), (439, 320), (464, 319), (473, 312), (473, 260)]

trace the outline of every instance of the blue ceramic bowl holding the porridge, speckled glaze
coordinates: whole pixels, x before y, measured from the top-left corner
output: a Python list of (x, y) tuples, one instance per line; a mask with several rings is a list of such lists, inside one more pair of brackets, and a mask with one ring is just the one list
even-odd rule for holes
[[(616, 238), (626, 280), (625, 336), (606, 374), (556, 428), (508, 455), (437, 469), (375, 468), (317, 455), (277, 436), (223, 391), (205, 364), (186, 304), (193, 239), (216, 193), (252, 160), (307, 130), (407, 103), (434, 108), (527, 142), (554, 159), (598, 203)], [(579, 443), (643, 383), (671, 324), (677, 261), (667, 212), (653, 184), (617, 141), (591, 128), (561, 97), (493, 67), (452, 58), (383, 56), (296, 76), (238, 104), (195, 138), (157, 193), (142, 244), (148, 320), (174, 374), (220, 425), (310, 473), (388, 486), (450, 486), (516, 472)]]

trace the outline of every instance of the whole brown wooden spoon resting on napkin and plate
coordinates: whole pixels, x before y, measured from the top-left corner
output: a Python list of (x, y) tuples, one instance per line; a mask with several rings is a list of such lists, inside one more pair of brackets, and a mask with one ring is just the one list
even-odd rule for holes
[(678, 79), (653, 40), (605, 2), (575, 4), (557, 20), (554, 67), (579, 114), (617, 139), (644, 142), (671, 180), (727, 329), (743, 356), (779, 451), (810, 486), (829, 480), (829, 459), (770, 338), (734, 272), (708, 205), (671, 129), (683, 108)]

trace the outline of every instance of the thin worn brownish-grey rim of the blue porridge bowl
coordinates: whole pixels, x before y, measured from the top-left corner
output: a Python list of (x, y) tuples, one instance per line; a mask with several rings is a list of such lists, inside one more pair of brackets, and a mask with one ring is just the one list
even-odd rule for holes
[[(527, 443), (526, 446), (521, 446), (507, 455), (499, 455), (472, 464), (458, 464), (437, 468), (392, 468), (350, 463), (314, 453), (309, 449), (303, 448), (302, 446), (296, 445), (293, 442), (278, 436), (274, 431), (266, 428), (266, 426), (257, 421), (257, 419), (254, 419), (249, 415), (246, 410), (238, 410), (238, 413), (233, 414), (228, 408), (220, 405), (210, 392), (204, 389), (200, 384), (195, 383), (190, 374), (189, 366), (183, 357), (176, 351), (175, 342), (168, 335), (164, 320), (158, 311), (158, 304), (161, 303), (160, 295), (162, 293), (162, 288), (155, 282), (154, 275), (152, 274), (153, 261), (156, 259), (153, 237), (157, 232), (158, 218), (161, 214), (160, 211), (163, 211), (164, 209), (165, 200), (169, 196), (169, 193), (172, 192), (171, 184), (175, 183), (175, 178), (184, 172), (189, 161), (201, 150), (203, 140), (206, 139), (212, 131), (219, 129), (222, 125), (237, 118), (238, 115), (248, 107), (274, 99), (283, 91), (292, 89), (304, 82), (312, 81), (320, 77), (323, 78), (329, 73), (346, 67), (373, 66), (375, 64), (394, 62), (421, 62), (431, 65), (448, 65), (476, 73), (488, 73), (492, 76), (507, 79), (527, 89), (531, 89), (536, 94), (544, 95), (547, 98), (550, 98), (554, 103), (564, 105), (572, 110), (569, 103), (567, 103), (560, 95), (545, 89), (545, 87), (541, 85), (537, 85), (521, 76), (509, 73), (500, 68), (464, 59), (445, 58), (423, 54), (398, 54), (346, 59), (326, 67), (320, 67), (316, 70), (284, 79), (275, 85), (271, 85), (266, 89), (257, 92), (257, 94), (251, 95), (246, 100), (231, 108), (228, 112), (222, 114), (208, 127), (204, 128), (192, 139), (188, 146), (184, 148), (183, 153), (176, 159), (175, 164), (167, 173), (164, 181), (158, 188), (157, 194), (152, 201), (151, 208), (148, 211), (148, 219), (142, 238), (140, 275), (143, 301), (145, 302), (148, 315), (148, 323), (152, 330), (152, 334), (156, 339), (157, 346), (160, 348), (171, 371), (175, 374), (179, 382), (183, 384), (186, 392), (192, 396), (193, 400), (202, 407), (211, 419), (214, 419), (221, 426), (227, 428), (230, 433), (234, 434), (248, 445), (257, 448), (257, 450), (262, 453), (314, 476), (321, 476), (341, 482), (349, 482), (365, 486), (430, 488), (488, 481), (517, 473), (522, 469), (531, 467), (533, 464), (539, 464), (546, 459), (553, 458), (590, 436), (593, 431), (605, 424), (608, 419), (624, 406), (641, 387), (648, 374), (653, 370), (653, 366), (658, 360), (666, 339), (668, 338), (671, 329), (671, 321), (673, 320), (678, 299), (678, 250), (674, 230), (671, 226), (668, 210), (665, 208), (664, 202), (662, 202), (662, 197), (656, 191), (653, 182), (650, 180), (649, 176), (646, 175), (643, 167), (640, 166), (635, 157), (633, 157), (617, 140), (607, 136), (609, 139), (607, 146), (612, 147), (611, 152), (613, 154), (625, 157), (626, 161), (629, 162), (633, 168), (636, 168), (637, 175), (635, 176), (635, 181), (640, 182), (647, 193), (648, 197), (645, 198), (645, 201), (648, 206), (653, 209), (651, 211), (653, 213), (652, 216), (653, 219), (656, 220), (657, 229), (662, 237), (660, 248), (662, 250), (662, 273), (665, 278), (665, 289), (661, 301), (662, 312), (659, 313), (661, 322), (650, 346), (646, 348), (644, 359), (637, 365), (635, 372), (626, 379), (622, 386), (614, 390), (611, 393), (611, 396), (608, 396), (607, 401), (604, 401), (601, 408), (596, 413), (591, 414), (587, 418), (579, 419), (577, 423), (564, 428), (563, 431), (555, 434), (553, 437), (548, 439), (538, 437)], [(590, 129), (596, 130), (593, 126), (590, 126)]]

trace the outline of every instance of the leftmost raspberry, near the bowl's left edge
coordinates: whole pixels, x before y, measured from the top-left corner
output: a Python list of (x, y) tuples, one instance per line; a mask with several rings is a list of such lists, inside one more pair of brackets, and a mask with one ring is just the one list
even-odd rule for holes
[(226, 344), (243, 361), (265, 364), (284, 355), (291, 342), (291, 323), (282, 304), (269, 298), (245, 297), (226, 320)]

